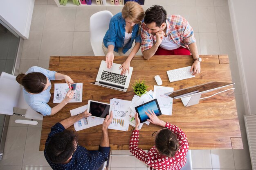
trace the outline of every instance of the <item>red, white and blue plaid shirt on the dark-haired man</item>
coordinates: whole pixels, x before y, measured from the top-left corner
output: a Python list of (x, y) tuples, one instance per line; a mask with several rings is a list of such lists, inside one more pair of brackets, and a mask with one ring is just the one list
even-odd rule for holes
[[(195, 42), (193, 28), (180, 15), (167, 15), (166, 34), (169, 35), (173, 43), (187, 49), (189, 49), (189, 44)], [(156, 37), (156, 35), (148, 33), (148, 28), (143, 22), (141, 25), (141, 52), (151, 48), (156, 42)]]

